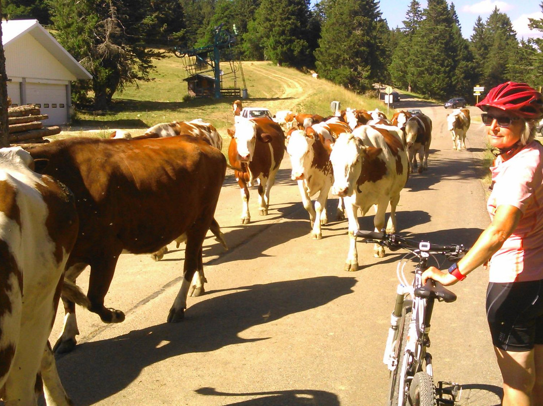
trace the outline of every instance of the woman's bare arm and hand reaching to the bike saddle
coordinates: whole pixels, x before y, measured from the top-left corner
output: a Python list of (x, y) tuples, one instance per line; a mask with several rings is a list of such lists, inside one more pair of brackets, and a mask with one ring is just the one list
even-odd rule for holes
[[(515, 206), (498, 206), (492, 223), (481, 233), (466, 255), (458, 261), (457, 265), (460, 273), (468, 275), (472, 270), (487, 262), (513, 233), (521, 217), (522, 212)], [(428, 278), (441, 282), (445, 286), (458, 282), (458, 279), (449, 272), (442, 272), (435, 267), (430, 267), (424, 271), (422, 283), (426, 283)]]

